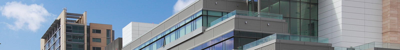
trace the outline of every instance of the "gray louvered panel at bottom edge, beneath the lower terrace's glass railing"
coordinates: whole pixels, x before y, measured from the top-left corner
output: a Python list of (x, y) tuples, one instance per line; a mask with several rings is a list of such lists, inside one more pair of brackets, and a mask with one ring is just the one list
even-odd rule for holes
[(276, 42), (275, 44), (276, 44), (276, 50), (334, 50), (334, 47), (330, 46), (314, 46), (314, 45), (290, 44), (290, 43), (280, 43), (280, 42)]

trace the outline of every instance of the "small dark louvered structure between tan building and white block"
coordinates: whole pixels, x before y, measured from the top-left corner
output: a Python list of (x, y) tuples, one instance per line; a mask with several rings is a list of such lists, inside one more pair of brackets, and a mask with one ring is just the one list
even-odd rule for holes
[(104, 47), (104, 50), (122, 50), (122, 38), (117, 38)]

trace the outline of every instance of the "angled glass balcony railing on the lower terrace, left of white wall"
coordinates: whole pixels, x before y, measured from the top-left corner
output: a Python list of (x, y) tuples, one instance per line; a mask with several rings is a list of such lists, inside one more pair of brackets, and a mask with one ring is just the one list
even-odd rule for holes
[(313, 37), (313, 36), (299, 36), (299, 35), (290, 35), (290, 34), (272, 34), (260, 40), (256, 40), (249, 44), (243, 46), (243, 50), (247, 50), (254, 46), (258, 46), (265, 42), (269, 42), (271, 40), (281, 39), (281, 40), (295, 40), (295, 41), (304, 41), (304, 42), (320, 42), (320, 43), (328, 43), (328, 38), (324, 37)]

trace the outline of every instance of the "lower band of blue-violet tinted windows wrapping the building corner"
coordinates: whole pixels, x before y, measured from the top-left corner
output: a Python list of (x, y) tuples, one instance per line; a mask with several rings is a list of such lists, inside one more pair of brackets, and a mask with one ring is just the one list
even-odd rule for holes
[(232, 31), (191, 50), (242, 50), (243, 46), (272, 34)]

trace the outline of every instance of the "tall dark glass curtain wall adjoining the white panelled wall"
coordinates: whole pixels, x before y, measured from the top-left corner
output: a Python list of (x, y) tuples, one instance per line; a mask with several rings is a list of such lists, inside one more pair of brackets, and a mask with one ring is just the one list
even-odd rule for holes
[[(257, 8), (248, 1), (248, 6)], [(258, 0), (259, 12), (282, 14), (288, 22), (288, 33), (318, 36), (318, 0)], [(249, 9), (249, 11), (253, 11)]]

